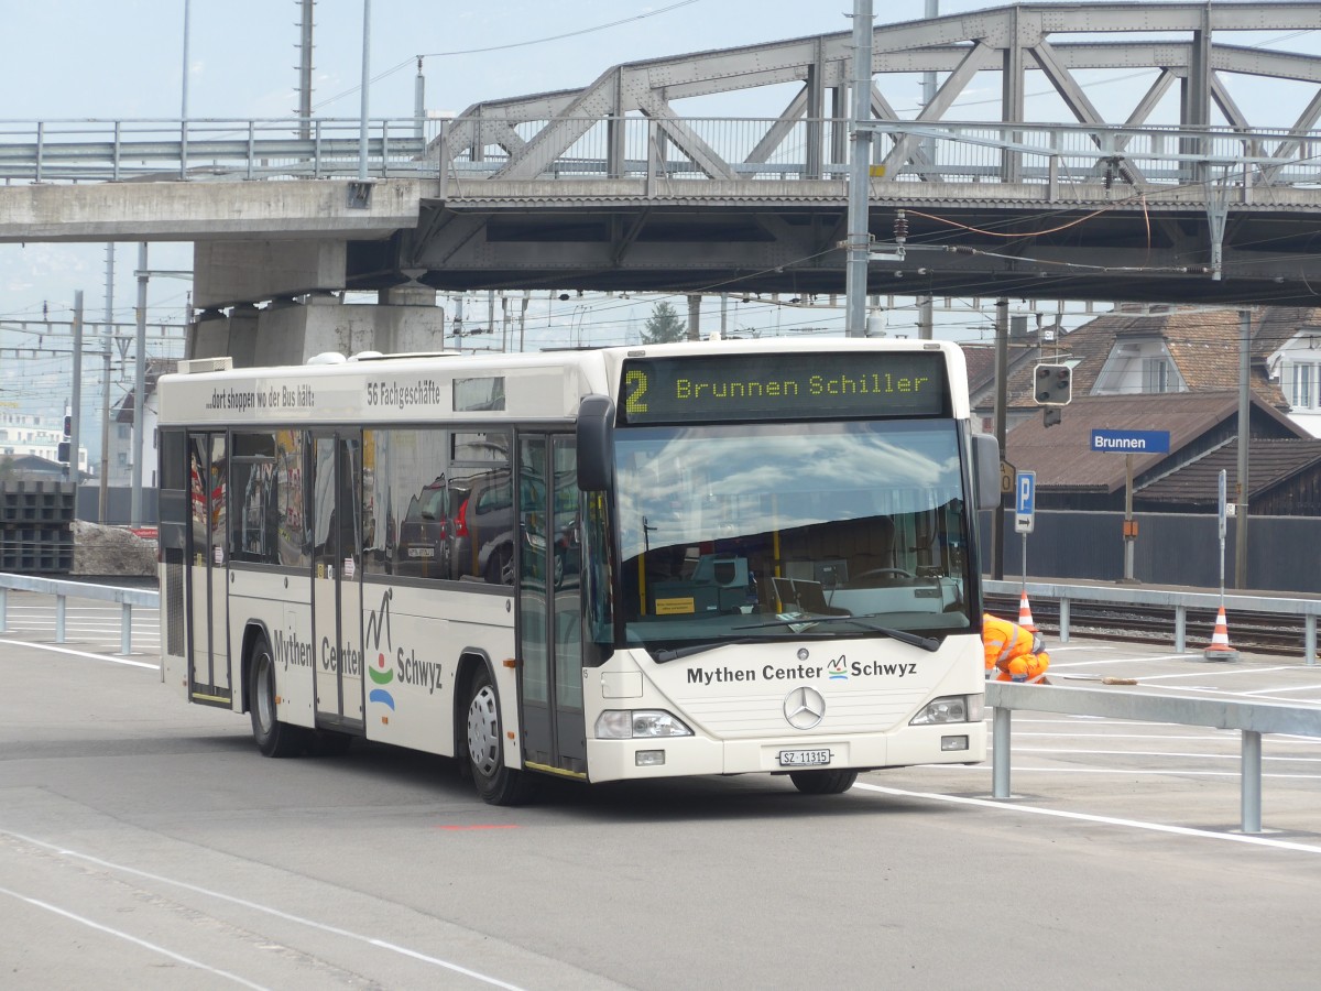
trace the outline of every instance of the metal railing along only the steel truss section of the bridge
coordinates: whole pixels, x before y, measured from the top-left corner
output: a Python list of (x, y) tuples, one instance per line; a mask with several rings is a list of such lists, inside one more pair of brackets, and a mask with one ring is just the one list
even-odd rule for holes
[[(1321, 184), (1321, 133), (1285, 129), (873, 122), (886, 182), (1124, 189)], [(446, 176), (499, 178), (843, 180), (843, 119), (457, 119), (437, 137)]]

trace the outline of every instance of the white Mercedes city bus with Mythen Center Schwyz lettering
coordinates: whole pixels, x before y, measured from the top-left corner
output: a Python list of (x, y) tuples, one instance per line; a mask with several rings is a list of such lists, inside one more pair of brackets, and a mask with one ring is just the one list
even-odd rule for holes
[(494, 803), (984, 760), (956, 346), (227, 365), (159, 386), (162, 665), (262, 753), (453, 756)]

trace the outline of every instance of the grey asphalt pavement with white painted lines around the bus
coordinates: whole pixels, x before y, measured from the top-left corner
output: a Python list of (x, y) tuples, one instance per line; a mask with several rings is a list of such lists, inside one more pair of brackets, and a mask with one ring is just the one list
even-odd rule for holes
[[(266, 760), (185, 704), (155, 614), (11, 596), (0, 634), (5, 987), (1310, 988), (1321, 745), (1015, 712), (991, 762), (808, 797), (749, 774), (485, 806), (453, 761), (384, 747)], [(1053, 645), (1107, 691), (1321, 707), (1321, 669)], [(989, 732), (989, 728), (988, 728)]]

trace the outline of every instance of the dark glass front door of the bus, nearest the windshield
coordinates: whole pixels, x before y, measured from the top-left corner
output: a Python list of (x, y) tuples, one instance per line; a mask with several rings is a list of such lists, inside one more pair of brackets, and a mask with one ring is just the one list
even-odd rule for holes
[(587, 777), (573, 437), (518, 445), (518, 658), (523, 762)]

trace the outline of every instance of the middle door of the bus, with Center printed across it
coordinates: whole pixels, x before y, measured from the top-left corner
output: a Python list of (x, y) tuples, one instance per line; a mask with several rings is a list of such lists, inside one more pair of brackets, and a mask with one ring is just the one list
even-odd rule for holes
[(312, 435), (312, 643), (317, 727), (358, 731), (363, 714), (362, 443)]

